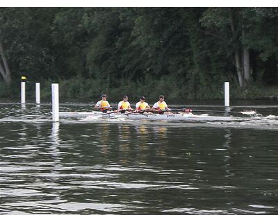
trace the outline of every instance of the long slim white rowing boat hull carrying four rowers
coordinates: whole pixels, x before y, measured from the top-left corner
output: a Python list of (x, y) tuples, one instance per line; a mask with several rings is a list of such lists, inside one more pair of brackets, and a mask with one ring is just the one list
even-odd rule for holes
[(193, 113), (178, 113), (178, 114), (120, 114), (120, 113), (111, 113), (104, 115), (102, 112), (60, 112), (60, 117), (98, 117), (98, 118), (123, 118), (123, 119), (132, 119), (132, 120), (167, 120), (167, 121), (231, 121), (234, 120), (234, 117), (218, 117), (218, 116), (209, 116), (208, 114), (195, 115)]

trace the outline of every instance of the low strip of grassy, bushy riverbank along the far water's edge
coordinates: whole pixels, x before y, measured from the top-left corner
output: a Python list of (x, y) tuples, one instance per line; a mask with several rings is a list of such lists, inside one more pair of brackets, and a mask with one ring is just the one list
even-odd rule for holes
[[(177, 80), (176, 80), (177, 82)], [(173, 80), (159, 80), (157, 83), (135, 83), (124, 81), (118, 87), (106, 86), (103, 80), (80, 79), (70, 80), (47, 80), (41, 83), (40, 96), (42, 101), (51, 99), (51, 83), (59, 83), (60, 98), (65, 101), (90, 101), (99, 98), (101, 94), (108, 94), (109, 100), (118, 101), (124, 94), (130, 99), (138, 99), (145, 95), (148, 101), (156, 101), (158, 95), (164, 94), (167, 101), (204, 101), (222, 100), (224, 89), (220, 87), (207, 87), (206, 89), (188, 90), (189, 87), (181, 87)], [(157, 87), (153, 87), (156, 85)], [(252, 84), (247, 89), (240, 89), (236, 83), (230, 83), (231, 100), (274, 100), (278, 101), (278, 86), (263, 86)], [(1, 99), (19, 99), (20, 83), (6, 85), (0, 82)], [(35, 83), (26, 83), (26, 98), (35, 98)]]

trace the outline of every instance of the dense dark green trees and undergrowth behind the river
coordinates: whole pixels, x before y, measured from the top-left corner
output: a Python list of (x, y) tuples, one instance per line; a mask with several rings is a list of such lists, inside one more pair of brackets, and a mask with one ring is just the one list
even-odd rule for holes
[(277, 8), (0, 8), (0, 22), (0, 96), (19, 96), (22, 74), (69, 98), (220, 99), (229, 80), (254, 99), (278, 84)]

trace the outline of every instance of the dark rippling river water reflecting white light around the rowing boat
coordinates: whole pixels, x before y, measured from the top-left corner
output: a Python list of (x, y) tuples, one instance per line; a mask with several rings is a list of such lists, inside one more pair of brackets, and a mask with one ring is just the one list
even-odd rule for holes
[(277, 214), (278, 106), (248, 105), (261, 115), (52, 123), (50, 104), (0, 103), (0, 214)]

